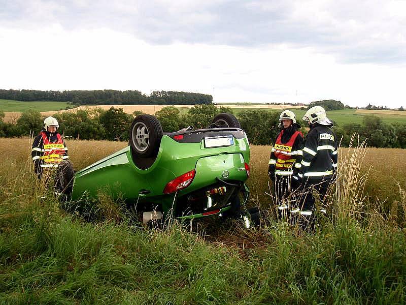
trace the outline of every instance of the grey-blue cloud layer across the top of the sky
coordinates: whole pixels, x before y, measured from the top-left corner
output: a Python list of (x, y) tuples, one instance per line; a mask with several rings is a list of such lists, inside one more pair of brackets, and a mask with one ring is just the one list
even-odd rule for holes
[[(4, 2), (4, 4), (2, 4)], [(344, 63), (406, 63), (404, 1), (0, 0), (0, 25), (109, 28), (152, 44), (313, 47)]]

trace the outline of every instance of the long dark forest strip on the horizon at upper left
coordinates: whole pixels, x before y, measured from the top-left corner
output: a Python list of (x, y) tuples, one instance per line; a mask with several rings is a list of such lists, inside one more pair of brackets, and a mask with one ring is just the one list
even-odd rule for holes
[(184, 105), (210, 104), (213, 97), (208, 94), (153, 91), (149, 96), (137, 90), (4, 90), (0, 99), (16, 101), (57, 101), (75, 105)]

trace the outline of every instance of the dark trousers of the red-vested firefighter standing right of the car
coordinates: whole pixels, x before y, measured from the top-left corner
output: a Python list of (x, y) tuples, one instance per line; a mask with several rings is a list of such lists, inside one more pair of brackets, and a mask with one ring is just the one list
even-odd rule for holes
[(294, 191), (299, 187), (291, 175), (276, 175), (274, 194), (279, 216), (284, 216), (295, 206)]

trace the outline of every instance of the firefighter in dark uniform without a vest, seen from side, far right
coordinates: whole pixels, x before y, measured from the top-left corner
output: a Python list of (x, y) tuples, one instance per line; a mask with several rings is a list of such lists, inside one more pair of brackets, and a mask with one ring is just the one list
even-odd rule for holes
[(302, 149), (302, 160), (297, 165), (303, 193), (300, 209), (292, 212), (300, 213), (309, 224), (314, 220), (316, 200), (313, 196), (314, 190), (317, 191), (321, 202), (319, 211), (325, 214), (323, 201), (337, 169), (338, 145), (337, 138), (331, 130), (333, 124), (327, 118), (323, 107), (310, 108), (304, 114), (303, 120), (310, 126)]

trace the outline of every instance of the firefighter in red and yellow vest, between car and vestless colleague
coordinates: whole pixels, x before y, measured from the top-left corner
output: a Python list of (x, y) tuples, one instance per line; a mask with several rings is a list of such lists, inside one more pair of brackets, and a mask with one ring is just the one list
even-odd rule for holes
[(283, 215), (292, 208), (292, 191), (299, 186), (294, 165), (301, 161), (303, 135), (292, 111), (284, 110), (279, 120), (282, 130), (270, 153), (268, 175), (274, 182), (278, 211)]

